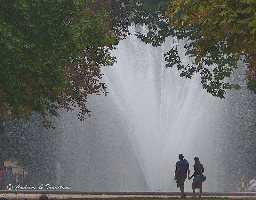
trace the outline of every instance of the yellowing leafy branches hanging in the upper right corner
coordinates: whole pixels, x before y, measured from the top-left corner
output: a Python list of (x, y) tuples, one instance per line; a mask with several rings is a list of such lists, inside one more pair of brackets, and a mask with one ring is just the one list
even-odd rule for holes
[[(255, 1), (172, 1), (166, 13), (169, 26), (189, 33), (185, 46), (193, 63), (183, 67), (182, 76), (200, 72), (201, 83), (213, 96), (224, 98), (226, 89), (240, 89), (227, 78), (240, 60), (247, 63), (248, 88), (255, 81)], [(231, 83), (230, 83), (231, 82)]]

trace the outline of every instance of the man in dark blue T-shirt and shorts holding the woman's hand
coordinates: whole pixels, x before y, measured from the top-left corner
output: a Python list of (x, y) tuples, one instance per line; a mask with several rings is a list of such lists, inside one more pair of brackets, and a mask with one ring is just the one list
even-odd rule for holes
[[(180, 161), (176, 162), (176, 170), (175, 170), (175, 175), (174, 175), (174, 181), (177, 182), (177, 188), (180, 188), (180, 193), (181, 197), (180, 198), (185, 198), (184, 194), (184, 182), (187, 178), (187, 171), (188, 171), (188, 180), (190, 180), (189, 177), (189, 164), (186, 159), (184, 159), (183, 154), (179, 155)], [(184, 160), (183, 160), (184, 159)]]

